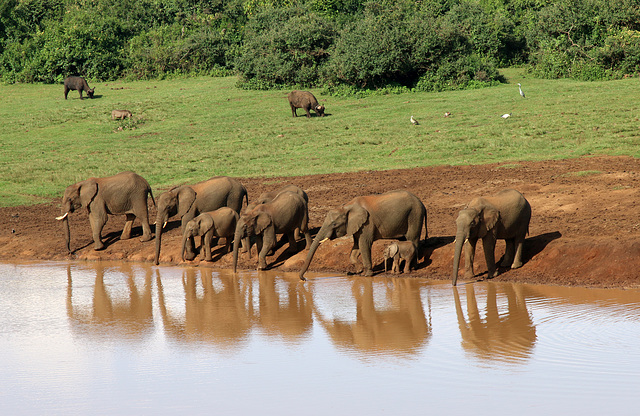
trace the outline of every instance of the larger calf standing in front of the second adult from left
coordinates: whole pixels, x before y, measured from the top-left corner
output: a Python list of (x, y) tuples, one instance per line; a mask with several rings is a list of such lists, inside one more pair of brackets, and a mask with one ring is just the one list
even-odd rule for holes
[(218, 208), (215, 211), (203, 212), (187, 223), (182, 233), (182, 260), (187, 248), (187, 240), (201, 236), (201, 250), (205, 261), (211, 260), (211, 242), (213, 237), (226, 239), (227, 253), (231, 251), (231, 237), (236, 229), (238, 213), (229, 207)]

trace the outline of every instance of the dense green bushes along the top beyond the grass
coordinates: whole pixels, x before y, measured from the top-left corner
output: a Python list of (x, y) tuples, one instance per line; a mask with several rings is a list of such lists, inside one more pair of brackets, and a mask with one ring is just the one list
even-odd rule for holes
[(252, 88), (463, 89), (640, 72), (638, 0), (4, 0), (0, 79), (239, 72)]

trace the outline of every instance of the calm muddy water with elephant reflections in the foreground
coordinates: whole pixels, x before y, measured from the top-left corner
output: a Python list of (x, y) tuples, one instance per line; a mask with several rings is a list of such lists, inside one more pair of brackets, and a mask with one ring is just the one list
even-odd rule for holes
[(637, 414), (640, 291), (0, 264), (0, 414)]

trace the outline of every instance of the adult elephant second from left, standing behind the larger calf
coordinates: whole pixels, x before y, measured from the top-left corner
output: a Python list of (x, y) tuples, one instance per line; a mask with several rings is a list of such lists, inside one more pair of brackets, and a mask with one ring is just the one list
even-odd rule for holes
[[(240, 213), (242, 201), (246, 200), (247, 190), (234, 178), (217, 176), (194, 185), (176, 186), (158, 197), (158, 215), (156, 217), (156, 256), (155, 264), (160, 261), (162, 230), (169, 218), (177, 215), (182, 221), (182, 232), (189, 221), (197, 215), (229, 207)], [(195, 258), (195, 243), (189, 238), (186, 246), (187, 260)]]

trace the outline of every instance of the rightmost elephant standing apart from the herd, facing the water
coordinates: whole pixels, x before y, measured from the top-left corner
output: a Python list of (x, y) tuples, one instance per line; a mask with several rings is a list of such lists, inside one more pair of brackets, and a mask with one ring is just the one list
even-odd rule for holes
[(475, 198), (460, 211), (456, 219), (455, 254), (453, 258), (452, 284), (458, 280), (458, 267), (462, 246), (465, 248), (465, 278), (474, 276), (473, 259), (478, 238), (482, 238), (482, 248), (487, 262), (488, 278), (497, 276), (495, 246), (497, 239), (506, 241), (506, 251), (502, 267), (517, 269), (522, 266), (522, 246), (529, 232), (531, 205), (515, 189), (505, 189), (493, 197)]

